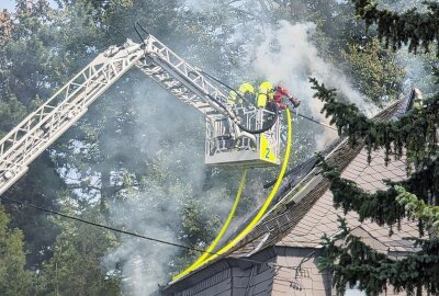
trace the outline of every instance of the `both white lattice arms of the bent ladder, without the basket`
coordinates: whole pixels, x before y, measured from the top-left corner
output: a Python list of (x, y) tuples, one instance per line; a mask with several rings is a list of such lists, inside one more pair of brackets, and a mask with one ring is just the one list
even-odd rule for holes
[(29, 169), (29, 164), (74, 125), (108, 88), (133, 66), (185, 104), (210, 116), (228, 118), (234, 137), (254, 135), (240, 130), (227, 104), (228, 95), (202, 72), (153, 35), (140, 43), (131, 39), (98, 55), (77, 76), (0, 140), (0, 195)]

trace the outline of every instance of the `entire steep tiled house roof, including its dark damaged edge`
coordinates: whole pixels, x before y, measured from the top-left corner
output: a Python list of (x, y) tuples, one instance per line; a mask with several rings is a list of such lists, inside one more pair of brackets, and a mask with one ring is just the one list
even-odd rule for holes
[[(396, 119), (407, 111), (413, 98), (412, 91), (410, 94), (379, 113), (374, 121)], [(370, 192), (385, 189), (383, 179), (399, 181), (406, 177), (404, 159), (385, 166), (383, 151), (375, 151), (369, 164), (361, 140), (357, 146), (351, 147), (347, 139), (338, 139), (331, 146), (334, 148), (326, 151), (325, 159), (330, 166), (338, 167), (344, 178), (356, 181), (362, 189)], [(344, 213), (342, 209), (334, 208), (329, 181), (322, 177), (319, 168), (309, 164), (313, 163), (312, 161), (305, 163), (307, 164), (300, 166), (306, 173), (301, 170), (302, 175), (293, 185), (283, 186), (271, 209), (237, 246), (224, 255), (250, 257), (269, 247), (316, 248), (319, 247), (324, 234), (334, 235), (338, 231), (337, 215), (344, 216)], [(383, 252), (413, 251), (412, 244), (404, 238), (418, 236), (418, 229), (414, 223), (403, 221), (401, 229), (393, 229), (394, 235), (389, 237), (389, 228), (368, 220), (361, 224), (356, 213), (348, 213), (346, 219), (351, 229), (364, 238), (367, 243)], [(223, 259), (211, 261), (200, 270), (219, 260)], [(179, 281), (190, 277), (191, 274)]]

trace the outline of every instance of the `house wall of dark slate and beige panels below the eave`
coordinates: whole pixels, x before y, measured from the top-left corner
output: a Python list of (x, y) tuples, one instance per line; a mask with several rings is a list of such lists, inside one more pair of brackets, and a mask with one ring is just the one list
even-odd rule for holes
[[(329, 273), (320, 273), (322, 249), (275, 247), (256, 254), (252, 264), (239, 260), (219, 261), (162, 291), (166, 296), (330, 296), (336, 295)], [(266, 253), (261, 255), (261, 253)], [(267, 254), (270, 253), (270, 254)], [(260, 257), (260, 258), (258, 258)], [(262, 258), (266, 258), (263, 260)], [(272, 263), (272, 264), (271, 264)], [(386, 296), (395, 294), (389, 287)]]

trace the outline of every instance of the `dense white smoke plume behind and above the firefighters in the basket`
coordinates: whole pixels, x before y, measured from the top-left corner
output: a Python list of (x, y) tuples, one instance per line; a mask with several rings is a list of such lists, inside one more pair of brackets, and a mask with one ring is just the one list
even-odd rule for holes
[[(316, 78), (329, 88), (357, 104), (367, 115), (376, 113), (378, 107), (367, 103), (359, 91), (352, 88), (349, 79), (331, 62), (319, 56), (317, 47), (312, 43), (316, 25), (314, 23), (291, 24), (280, 21), (278, 29), (268, 29), (268, 36), (255, 50), (254, 67), (260, 77), (274, 83), (282, 82), (291, 94), (302, 101), (302, 110), (319, 121), (328, 123), (320, 114), (323, 102), (314, 99), (309, 77)], [(317, 149), (337, 137), (327, 130), (316, 137)]]

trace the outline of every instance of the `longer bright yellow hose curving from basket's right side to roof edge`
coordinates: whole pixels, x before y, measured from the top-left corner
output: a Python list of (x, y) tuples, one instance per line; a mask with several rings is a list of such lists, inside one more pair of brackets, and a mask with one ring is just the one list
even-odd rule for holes
[[(249, 225), (247, 225), (247, 227), (238, 235), (236, 236), (232, 241), (229, 241), (226, 246), (224, 246), (222, 249), (219, 249), (217, 252), (215, 252), (214, 254), (211, 254), (211, 251), (205, 251), (203, 257), (207, 257), (209, 254), (211, 254), (207, 259), (202, 260), (196, 260), (195, 263), (193, 263), (190, 267), (188, 267), (187, 270), (184, 270), (183, 272), (181, 272), (180, 274), (176, 275), (172, 280), (178, 280), (181, 276), (190, 273), (191, 271), (196, 270), (199, 266), (216, 259), (217, 257), (224, 254), (225, 252), (227, 252), (228, 250), (230, 250), (233, 247), (235, 247), (245, 236), (248, 235), (248, 232), (250, 232), (250, 230), (255, 227), (255, 225), (262, 218), (263, 214), (266, 214), (268, 206), (270, 205), (271, 201), (273, 200), (275, 193), (279, 190), (279, 186), (282, 182), (283, 179), (283, 174), (286, 171), (286, 167), (288, 167), (288, 162), (290, 159), (290, 151), (291, 151), (291, 139), (292, 139), (292, 123), (291, 123), (291, 114), (290, 114), (290, 110), (286, 109), (286, 123), (288, 123), (288, 136), (286, 136), (286, 149), (285, 149), (285, 156), (283, 159), (283, 163), (282, 163), (282, 168), (281, 171), (279, 172), (279, 177), (278, 177), (278, 181), (275, 182), (273, 189), (271, 190), (270, 194), (268, 195), (266, 202), (263, 203), (262, 207), (259, 209), (258, 214), (255, 216), (255, 218), (250, 221)], [(243, 183), (243, 180), (241, 180)], [(244, 186), (244, 185), (243, 185)], [(240, 187), (240, 185), (239, 185)], [(239, 193), (239, 191), (238, 191)], [(224, 228), (224, 227), (223, 227)], [(223, 229), (222, 229), (223, 230)], [(219, 240), (219, 239), (218, 239)]]

